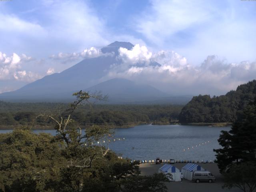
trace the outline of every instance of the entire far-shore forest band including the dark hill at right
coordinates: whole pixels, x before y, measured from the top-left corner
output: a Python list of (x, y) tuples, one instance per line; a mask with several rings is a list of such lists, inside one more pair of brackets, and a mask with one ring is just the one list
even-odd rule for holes
[[(81, 106), (72, 119), (82, 126), (107, 125), (132, 127), (139, 124), (189, 124), (234, 122), (256, 97), (256, 80), (231, 90), (226, 95), (199, 95), (188, 104), (93, 104)], [(67, 103), (15, 103), (0, 101), (0, 129), (17, 126), (50, 129), (50, 122), (36, 119), (38, 114), (65, 115)], [(36, 120), (35, 120), (36, 119)]]

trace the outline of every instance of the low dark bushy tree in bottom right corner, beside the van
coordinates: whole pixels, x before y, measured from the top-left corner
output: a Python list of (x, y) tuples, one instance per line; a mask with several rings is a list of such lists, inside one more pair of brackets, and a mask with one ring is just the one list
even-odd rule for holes
[(256, 188), (256, 163), (245, 162), (233, 165), (224, 176), (225, 184), (223, 188), (238, 187), (244, 192), (253, 192)]

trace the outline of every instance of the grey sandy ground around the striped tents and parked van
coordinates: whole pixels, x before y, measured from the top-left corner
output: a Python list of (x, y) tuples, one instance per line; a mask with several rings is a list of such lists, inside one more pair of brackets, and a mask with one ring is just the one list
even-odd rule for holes
[[(209, 170), (212, 172), (216, 177), (215, 183), (194, 183), (189, 180), (183, 179), (183, 182), (166, 182), (166, 186), (168, 191), (170, 192), (240, 192), (238, 188), (234, 188), (231, 190), (222, 189), (223, 177), (219, 173), (219, 169), (217, 164), (215, 163), (197, 163), (198, 165), (202, 166), (204, 169)], [(140, 164), (140, 171), (142, 175), (151, 175), (154, 173), (158, 173), (158, 169), (163, 166), (164, 164)], [(184, 167), (186, 163), (175, 163), (174, 166), (180, 169)]]

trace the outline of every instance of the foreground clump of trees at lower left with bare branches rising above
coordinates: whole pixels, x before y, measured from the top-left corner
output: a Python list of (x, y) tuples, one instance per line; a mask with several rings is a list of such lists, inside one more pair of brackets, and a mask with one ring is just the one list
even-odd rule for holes
[(37, 116), (54, 123), (56, 136), (29, 129), (0, 134), (0, 192), (132, 192), (128, 188), (134, 183), (165, 192), (164, 176), (140, 176), (136, 163), (108, 148), (116, 139), (111, 129), (91, 126), (84, 131), (72, 119), (78, 106), (104, 97), (82, 91), (74, 96), (77, 100), (64, 115)]

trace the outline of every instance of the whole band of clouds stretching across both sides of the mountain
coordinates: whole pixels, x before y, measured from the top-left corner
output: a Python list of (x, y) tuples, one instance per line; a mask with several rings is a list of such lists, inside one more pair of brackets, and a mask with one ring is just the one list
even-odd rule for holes
[[(212, 55), (207, 56), (201, 64), (195, 66), (190, 64), (187, 58), (174, 51), (150, 52), (146, 46), (139, 44), (130, 50), (120, 47), (117, 54), (102, 53), (99, 48), (92, 47), (78, 53), (52, 55), (48, 60), (66, 63), (100, 56), (114, 57), (115, 62), (110, 66), (105, 66), (104, 75), (96, 82), (112, 78), (126, 78), (152, 85), (169, 94), (219, 95), (256, 78), (256, 62), (229, 63), (224, 58)], [(14, 53), (8, 57), (1, 53), (1, 80), (32, 82), (55, 72), (54, 64), (41, 74), (23, 70), (23, 66), (29, 62), (39, 61), (32, 60), (24, 54), (18, 56)]]

